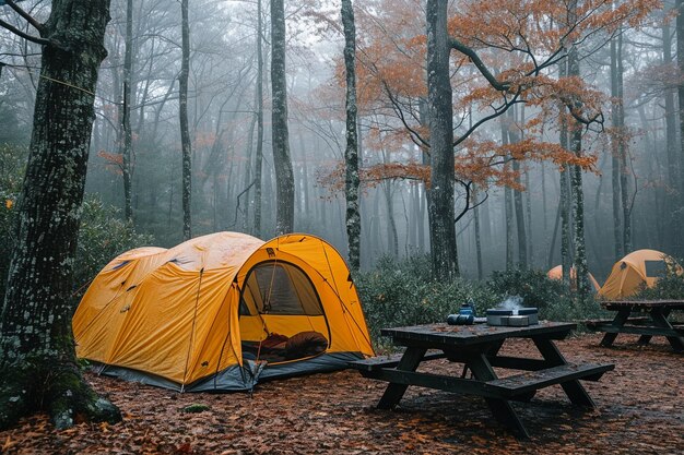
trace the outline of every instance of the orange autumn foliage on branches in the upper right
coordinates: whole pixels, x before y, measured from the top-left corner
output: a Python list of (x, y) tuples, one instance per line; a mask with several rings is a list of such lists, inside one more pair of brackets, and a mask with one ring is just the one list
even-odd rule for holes
[[(482, 187), (517, 187), (511, 167), (504, 166), (509, 158), (595, 170), (595, 157), (587, 151), (578, 157), (543, 139), (562, 119), (571, 128), (595, 125), (597, 131), (603, 131), (602, 111), (610, 103), (580, 77), (558, 77), (557, 62), (569, 46), (585, 46), (591, 51), (618, 27), (638, 26), (660, 1), (625, 0), (614, 9), (611, 0), (580, 3), (574, 21), (567, 2), (552, 0), (462, 0), (451, 4), (450, 35), (473, 49), (498, 82), (494, 87), (470, 57), (451, 52), (455, 179)], [(401, 153), (411, 142), (429, 153), (429, 132), (421, 110), (427, 94), (423, 8), (420, 0), (356, 3), (358, 108), (375, 124), (364, 137), (364, 148), (392, 151), (399, 157), (389, 164), (366, 164), (362, 170), (365, 184), (398, 178), (429, 181), (429, 169), (417, 163), (415, 154)], [(341, 88), (341, 61), (335, 79)], [(522, 141), (502, 146), (471, 135), (476, 127), (469, 128), (469, 123), (500, 112), (514, 101), (529, 107), (528, 117), (518, 125), (524, 131)], [(321, 181), (340, 189), (340, 169), (342, 166)]]

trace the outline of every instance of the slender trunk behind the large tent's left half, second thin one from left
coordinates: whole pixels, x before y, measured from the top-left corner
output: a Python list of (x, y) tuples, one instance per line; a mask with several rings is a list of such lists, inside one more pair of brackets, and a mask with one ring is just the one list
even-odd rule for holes
[(188, 21), (188, 0), (180, 2), (181, 13), (181, 59), (179, 117), (180, 117), (180, 146), (182, 148), (182, 238), (188, 240), (192, 237), (191, 220), (191, 194), (192, 194), (192, 151), (190, 144), (190, 130), (188, 127), (188, 79), (190, 75), (190, 24)]

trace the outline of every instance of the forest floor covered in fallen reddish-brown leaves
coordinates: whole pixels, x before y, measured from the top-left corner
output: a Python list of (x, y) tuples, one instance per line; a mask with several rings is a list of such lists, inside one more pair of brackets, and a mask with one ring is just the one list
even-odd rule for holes
[[(253, 394), (178, 394), (87, 375), (123, 412), (115, 426), (81, 423), (56, 431), (45, 416), (0, 432), (8, 454), (683, 454), (684, 357), (664, 338), (648, 347), (621, 335), (613, 348), (599, 335), (558, 342), (570, 361), (614, 362), (585, 382), (598, 405), (570, 406), (559, 386), (530, 404), (514, 404), (531, 433), (509, 435), (480, 398), (410, 388), (396, 410), (375, 405), (385, 384), (356, 371), (259, 385)], [(531, 344), (505, 345), (509, 354)], [(433, 361), (445, 371), (447, 361)], [(208, 410), (189, 414), (192, 404)]]

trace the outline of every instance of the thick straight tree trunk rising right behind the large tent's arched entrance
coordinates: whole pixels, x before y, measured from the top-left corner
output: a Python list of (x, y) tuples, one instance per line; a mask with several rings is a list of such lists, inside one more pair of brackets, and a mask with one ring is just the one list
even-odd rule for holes
[(285, 74), (285, 10), (284, 0), (271, 0), (271, 88), (273, 166), (275, 168), (275, 232), (294, 230), (295, 184), (290, 158), (287, 131), (287, 85)]

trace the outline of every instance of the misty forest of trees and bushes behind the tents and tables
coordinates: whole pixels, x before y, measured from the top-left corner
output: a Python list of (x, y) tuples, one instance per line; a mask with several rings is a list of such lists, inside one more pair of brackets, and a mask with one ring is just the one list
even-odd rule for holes
[(121, 418), (71, 315), (133, 248), (317, 236), (374, 338), (684, 256), (683, 3), (0, 0), (0, 429)]

